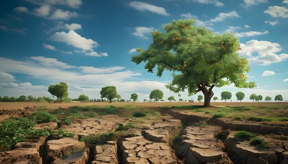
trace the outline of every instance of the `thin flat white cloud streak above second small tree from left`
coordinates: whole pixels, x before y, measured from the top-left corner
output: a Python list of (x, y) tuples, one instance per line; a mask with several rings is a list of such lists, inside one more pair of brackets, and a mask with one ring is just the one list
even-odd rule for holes
[(80, 66), (82, 72), (84, 73), (92, 73), (92, 74), (105, 74), (105, 73), (112, 73), (112, 72), (119, 72), (120, 70), (125, 69), (122, 66), (112, 66), (112, 67), (103, 67), (103, 68), (95, 68), (91, 66)]

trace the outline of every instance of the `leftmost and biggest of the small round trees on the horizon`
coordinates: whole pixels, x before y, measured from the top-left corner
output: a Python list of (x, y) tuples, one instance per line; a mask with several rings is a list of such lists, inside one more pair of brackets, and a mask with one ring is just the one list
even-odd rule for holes
[(62, 98), (68, 97), (68, 85), (64, 82), (50, 85), (48, 87), (48, 92), (53, 96), (60, 98), (60, 103), (62, 103)]

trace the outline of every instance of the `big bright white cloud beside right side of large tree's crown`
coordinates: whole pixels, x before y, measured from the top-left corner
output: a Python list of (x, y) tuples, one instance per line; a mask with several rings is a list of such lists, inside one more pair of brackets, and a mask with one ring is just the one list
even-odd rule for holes
[(278, 63), (288, 58), (288, 54), (280, 52), (280, 44), (269, 41), (250, 40), (245, 44), (241, 44), (239, 53), (248, 57), (251, 63), (267, 66), (269, 64)]

